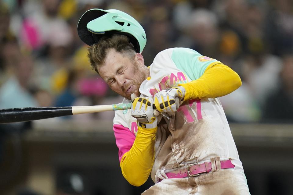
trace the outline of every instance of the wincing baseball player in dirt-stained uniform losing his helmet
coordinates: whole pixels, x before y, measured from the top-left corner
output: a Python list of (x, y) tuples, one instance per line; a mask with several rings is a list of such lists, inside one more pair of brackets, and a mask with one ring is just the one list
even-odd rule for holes
[[(154, 29), (155, 30), (155, 29)], [(147, 194), (250, 194), (217, 97), (241, 86), (228, 66), (188, 48), (170, 48), (146, 67), (146, 34), (119, 10), (91, 9), (78, 23), (91, 66), (131, 110), (116, 111), (122, 174)]]

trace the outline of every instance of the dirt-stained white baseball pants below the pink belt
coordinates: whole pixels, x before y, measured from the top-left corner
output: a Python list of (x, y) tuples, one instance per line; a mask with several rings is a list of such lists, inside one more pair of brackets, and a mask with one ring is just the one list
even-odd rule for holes
[(163, 179), (142, 195), (250, 195), (243, 172), (221, 169), (200, 176)]

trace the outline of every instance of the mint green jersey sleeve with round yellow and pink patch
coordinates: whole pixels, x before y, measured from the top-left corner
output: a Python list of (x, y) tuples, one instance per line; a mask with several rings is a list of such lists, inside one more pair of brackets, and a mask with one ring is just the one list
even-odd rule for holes
[(219, 62), (189, 48), (174, 48), (171, 58), (176, 67), (183, 71), (191, 80), (197, 80), (201, 77), (211, 63)]

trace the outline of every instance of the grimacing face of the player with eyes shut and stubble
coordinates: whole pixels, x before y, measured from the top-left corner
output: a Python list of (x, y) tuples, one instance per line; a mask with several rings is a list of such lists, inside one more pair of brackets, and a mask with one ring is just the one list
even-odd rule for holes
[(147, 78), (141, 54), (136, 53), (133, 59), (114, 49), (108, 51), (105, 64), (98, 67), (98, 72), (112, 90), (129, 100), (132, 93), (139, 97), (139, 87)]

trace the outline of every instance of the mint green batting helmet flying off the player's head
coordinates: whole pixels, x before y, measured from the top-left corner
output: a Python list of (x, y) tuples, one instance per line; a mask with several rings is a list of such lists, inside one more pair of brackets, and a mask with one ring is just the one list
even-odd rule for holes
[(143, 27), (132, 16), (117, 9), (90, 9), (79, 19), (78, 36), (89, 46), (97, 43), (101, 37), (113, 34), (126, 35), (136, 52), (141, 53), (147, 38)]

